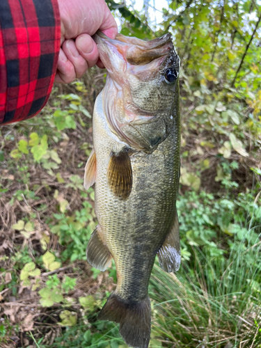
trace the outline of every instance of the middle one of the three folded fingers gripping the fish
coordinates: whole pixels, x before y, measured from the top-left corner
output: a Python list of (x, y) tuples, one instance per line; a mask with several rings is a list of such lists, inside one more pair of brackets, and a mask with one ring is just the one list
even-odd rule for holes
[(75, 70), (76, 78), (79, 79), (88, 69), (88, 64), (84, 57), (79, 54), (74, 40), (65, 40), (63, 42), (63, 52), (68, 60), (72, 63)]

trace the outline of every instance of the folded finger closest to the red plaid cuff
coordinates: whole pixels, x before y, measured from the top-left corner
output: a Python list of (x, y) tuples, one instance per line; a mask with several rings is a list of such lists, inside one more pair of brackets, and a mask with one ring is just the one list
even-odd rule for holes
[[(60, 77), (60, 79), (58, 79), (58, 77)], [(69, 84), (75, 78), (76, 74), (72, 62), (65, 56), (63, 49), (60, 49), (55, 81), (61, 84)]]

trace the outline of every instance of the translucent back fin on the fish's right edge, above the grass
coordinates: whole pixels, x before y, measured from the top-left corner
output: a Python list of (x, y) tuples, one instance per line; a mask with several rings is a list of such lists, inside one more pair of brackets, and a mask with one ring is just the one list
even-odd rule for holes
[(168, 233), (164, 244), (158, 251), (159, 266), (166, 272), (174, 272), (180, 268), (180, 230), (177, 214), (173, 227)]

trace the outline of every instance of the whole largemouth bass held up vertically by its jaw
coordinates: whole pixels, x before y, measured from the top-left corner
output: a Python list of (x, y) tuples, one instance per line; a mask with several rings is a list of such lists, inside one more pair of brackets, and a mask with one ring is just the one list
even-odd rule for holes
[(84, 187), (95, 183), (97, 227), (89, 264), (113, 258), (117, 286), (98, 319), (120, 323), (127, 345), (150, 342), (150, 274), (180, 267), (176, 198), (180, 178), (180, 58), (171, 33), (154, 40), (94, 35), (106, 83), (93, 111), (93, 151)]

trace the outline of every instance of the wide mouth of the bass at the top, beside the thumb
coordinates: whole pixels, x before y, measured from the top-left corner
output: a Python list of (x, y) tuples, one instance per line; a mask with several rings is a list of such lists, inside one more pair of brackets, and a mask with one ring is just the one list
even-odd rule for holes
[[(97, 31), (93, 36), (93, 40), (97, 44), (100, 58), (106, 68), (107, 54), (104, 54), (104, 51), (108, 51), (108, 49), (114, 56), (121, 56), (126, 63), (131, 65), (146, 65), (157, 58), (164, 58), (175, 52), (171, 33), (167, 33), (161, 38), (144, 41), (122, 34), (118, 34), (115, 39), (111, 39), (102, 31)], [(160, 59), (159, 63), (162, 63), (162, 61)]]

